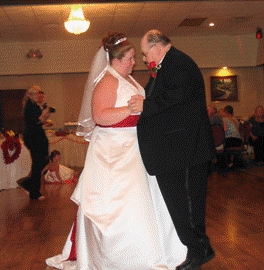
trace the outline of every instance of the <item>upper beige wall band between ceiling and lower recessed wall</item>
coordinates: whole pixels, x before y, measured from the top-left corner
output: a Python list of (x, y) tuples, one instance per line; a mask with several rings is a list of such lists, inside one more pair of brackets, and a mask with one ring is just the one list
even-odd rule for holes
[[(254, 35), (172, 37), (178, 49), (189, 54), (201, 68), (256, 66), (262, 59), (259, 40)], [(136, 47), (136, 70), (145, 70), (140, 39), (131, 38)], [(50, 41), (42, 43), (1, 43), (0, 75), (88, 72), (100, 40)], [(28, 51), (39, 48), (41, 59), (28, 59)], [(262, 49), (262, 47), (260, 47)], [(261, 60), (257, 61), (257, 57)]]

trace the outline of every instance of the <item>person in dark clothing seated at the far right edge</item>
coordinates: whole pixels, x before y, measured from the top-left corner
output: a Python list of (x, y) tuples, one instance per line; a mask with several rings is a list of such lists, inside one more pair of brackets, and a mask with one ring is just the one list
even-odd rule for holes
[(251, 124), (250, 137), (254, 148), (254, 157), (257, 165), (264, 165), (264, 108), (257, 106), (255, 113), (249, 118)]

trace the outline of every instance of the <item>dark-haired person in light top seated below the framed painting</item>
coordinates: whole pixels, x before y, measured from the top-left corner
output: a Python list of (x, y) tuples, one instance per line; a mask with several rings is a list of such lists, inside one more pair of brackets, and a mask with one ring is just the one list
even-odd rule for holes
[[(239, 122), (233, 116), (234, 109), (232, 106), (227, 105), (224, 108), (225, 116), (223, 117), (224, 126), (225, 126), (225, 149), (229, 149), (231, 147), (239, 147), (243, 144), (243, 141), (239, 132)], [(228, 167), (243, 167), (243, 161), (241, 160), (239, 155), (227, 154), (227, 164)], [(233, 161), (232, 161), (233, 158)]]

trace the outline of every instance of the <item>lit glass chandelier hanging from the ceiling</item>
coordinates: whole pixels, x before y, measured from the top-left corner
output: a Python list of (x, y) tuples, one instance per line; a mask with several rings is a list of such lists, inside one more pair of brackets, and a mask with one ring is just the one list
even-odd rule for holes
[(75, 35), (79, 35), (87, 31), (90, 22), (85, 20), (81, 5), (73, 5), (68, 21), (64, 22), (66, 30)]

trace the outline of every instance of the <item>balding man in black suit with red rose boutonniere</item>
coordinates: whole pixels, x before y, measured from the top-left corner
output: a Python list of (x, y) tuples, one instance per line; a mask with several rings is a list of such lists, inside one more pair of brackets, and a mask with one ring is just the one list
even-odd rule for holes
[(140, 152), (148, 173), (156, 175), (177, 233), (188, 247), (186, 260), (176, 270), (198, 269), (214, 257), (205, 229), (214, 142), (203, 76), (196, 63), (158, 30), (144, 35), (141, 50), (151, 72), (146, 99), (134, 96), (129, 101), (131, 109), (142, 111)]

